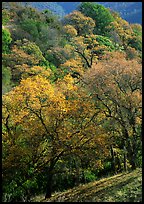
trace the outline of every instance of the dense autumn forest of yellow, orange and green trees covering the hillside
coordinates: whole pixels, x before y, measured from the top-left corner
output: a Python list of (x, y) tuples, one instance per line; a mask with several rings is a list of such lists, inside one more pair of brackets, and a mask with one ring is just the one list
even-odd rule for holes
[(2, 200), (142, 166), (142, 27), (83, 2), (2, 3)]

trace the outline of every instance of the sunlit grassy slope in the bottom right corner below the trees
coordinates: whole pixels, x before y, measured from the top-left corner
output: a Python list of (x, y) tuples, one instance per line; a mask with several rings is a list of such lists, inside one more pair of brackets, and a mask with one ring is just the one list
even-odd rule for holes
[(32, 202), (142, 202), (142, 169), (121, 173), (99, 181), (57, 192), (50, 199), (44, 195)]

